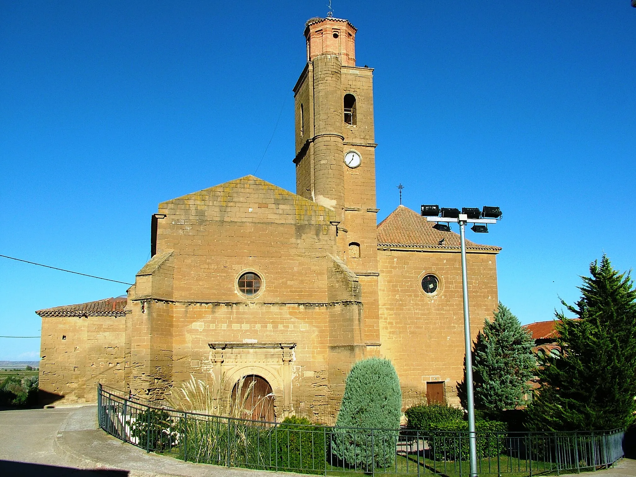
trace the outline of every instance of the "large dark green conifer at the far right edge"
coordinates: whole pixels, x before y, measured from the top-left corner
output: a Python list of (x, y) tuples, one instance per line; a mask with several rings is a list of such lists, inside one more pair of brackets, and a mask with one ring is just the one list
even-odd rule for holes
[(529, 427), (596, 431), (627, 427), (636, 411), (636, 290), (603, 256), (581, 277), (581, 299), (555, 312), (561, 352), (539, 360)]

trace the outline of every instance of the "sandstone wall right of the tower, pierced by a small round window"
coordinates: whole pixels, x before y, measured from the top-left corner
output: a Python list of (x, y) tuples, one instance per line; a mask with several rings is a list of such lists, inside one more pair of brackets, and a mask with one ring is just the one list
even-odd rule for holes
[[(378, 251), (382, 356), (396, 366), (404, 391), (424, 393), (426, 382), (445, 381), (450, 403), (464, 363), (464, 315), (459, 251)], [(468, 253), (471, 335), (497, 308), (496, 255)], [(427, 296), (421, 280), (432, 273), (438, 293)]]

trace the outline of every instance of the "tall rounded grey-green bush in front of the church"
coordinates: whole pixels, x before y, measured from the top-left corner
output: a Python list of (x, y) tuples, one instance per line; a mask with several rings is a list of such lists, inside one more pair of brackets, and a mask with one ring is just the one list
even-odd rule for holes
[(402, 413), (402, 391), (391, 361), (358, 361), (345, 382), (331, 450), (350, 467), (368, 471), (390, 466)]

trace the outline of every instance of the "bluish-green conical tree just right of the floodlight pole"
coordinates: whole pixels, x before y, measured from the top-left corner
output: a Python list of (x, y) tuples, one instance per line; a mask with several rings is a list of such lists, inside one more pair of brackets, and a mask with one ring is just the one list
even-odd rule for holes
[[(536, 370), (534, 340), (508, 307), (499, 303), (494, 320), (485, 321), (473, 348), (475, 408), (494, 413), (523, 403)], [(464, 371), (466, 365), (464, 364)], [(465, 375), (465, 374), (464, 374)], [(466, 383), (457, 386), (466, 408)]]

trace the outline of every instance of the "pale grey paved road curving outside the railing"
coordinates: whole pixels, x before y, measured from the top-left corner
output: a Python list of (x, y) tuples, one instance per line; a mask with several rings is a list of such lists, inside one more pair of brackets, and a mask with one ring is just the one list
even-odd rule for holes
[[(0, 411), (0, 476), (298, 476), (292, 473), (228, 469), (148, 454), (97, 429), (96, 414), (95, 406)], [(593, 475), (636, 477), (636, 460), (622, 459), (611, 469)]]

